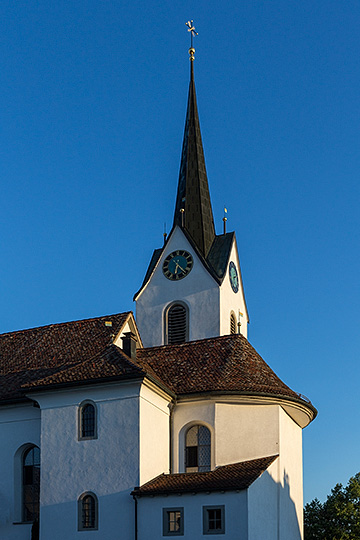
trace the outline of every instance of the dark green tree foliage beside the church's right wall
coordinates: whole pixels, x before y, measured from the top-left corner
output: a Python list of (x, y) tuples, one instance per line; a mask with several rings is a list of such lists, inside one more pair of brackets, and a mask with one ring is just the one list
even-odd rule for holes
[(360, 540), (360, 473), (336, 484), (326, 501), (305, 505), (305, 540)]

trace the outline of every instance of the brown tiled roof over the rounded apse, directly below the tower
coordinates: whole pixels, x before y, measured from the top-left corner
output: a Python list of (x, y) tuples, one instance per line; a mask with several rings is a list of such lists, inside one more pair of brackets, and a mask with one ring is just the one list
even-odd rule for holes
[(237, 392), (300, 399), (239, 334), (141, 349), (138, 362), (177, 395)]

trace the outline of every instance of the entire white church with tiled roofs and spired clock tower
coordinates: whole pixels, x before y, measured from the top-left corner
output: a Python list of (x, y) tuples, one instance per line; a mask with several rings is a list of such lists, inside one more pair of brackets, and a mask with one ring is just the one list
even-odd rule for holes
[[(247, 340), (194, 83), (174, 223), (132, 312), (0, 335), (1, 540), (301, 540), (314, 406)], [(145, 269), (144, 269), (145, 270)]]

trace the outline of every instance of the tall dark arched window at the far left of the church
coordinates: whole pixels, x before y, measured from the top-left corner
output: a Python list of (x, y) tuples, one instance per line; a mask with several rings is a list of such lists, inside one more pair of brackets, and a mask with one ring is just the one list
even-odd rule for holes
[(40, 449), (32, 446), (23, 454), (22, 468), (22, 519), (39, 519), (40, 506)]

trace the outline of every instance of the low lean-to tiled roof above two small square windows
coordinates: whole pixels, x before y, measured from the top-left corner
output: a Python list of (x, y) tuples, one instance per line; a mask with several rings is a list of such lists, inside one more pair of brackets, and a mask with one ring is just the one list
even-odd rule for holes
[(268, 456), (217, 467), (201, 473), (160, 474), (139, 488), (134, 495), (161, 495), (199, 491), (233, 491), (248, 488), (278, 456)]

